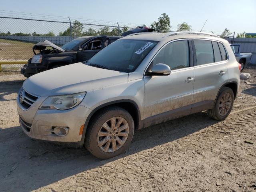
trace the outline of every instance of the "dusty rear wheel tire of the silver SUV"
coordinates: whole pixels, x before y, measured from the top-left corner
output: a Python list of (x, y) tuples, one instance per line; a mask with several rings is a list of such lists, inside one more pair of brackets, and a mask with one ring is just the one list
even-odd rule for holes
[[(224, 99), (223, 99), (224, 95), (227, 97), (229, 97), (229, 96), (231, 97), (230, 102), (226, 102), (227, 103), (226, 105), (222, 104), (223, 103), (222, 101), (224, 101)], [(223, 87), (218, 94), (218, 97), (216, 99), (214, 107), (210, 110), (207, 110), (208, 116), (215, 120), (224, 120), (230, 114), (233, 104), (234, 104), (233, 90), (229, 87)], [(222, 107), (220, 107), (220, 106), (224, 106), (223, 110), (221, 109)], [(228, 106), (230, 106), (229, 109), (227, 109)], [(221, 110), (221, 112), (220, 112), (220, 110)], [(226, 113), (224, 113), (225, 111), (226, 111)], [(223, 114), (222, 114), (222, 112), (223, 112)]]

